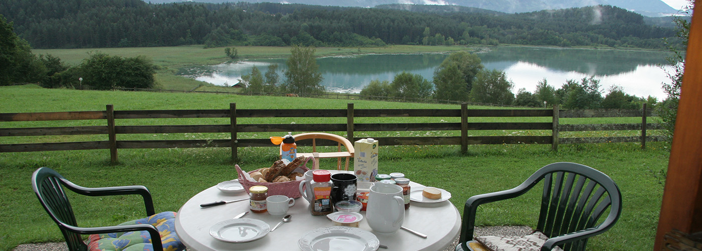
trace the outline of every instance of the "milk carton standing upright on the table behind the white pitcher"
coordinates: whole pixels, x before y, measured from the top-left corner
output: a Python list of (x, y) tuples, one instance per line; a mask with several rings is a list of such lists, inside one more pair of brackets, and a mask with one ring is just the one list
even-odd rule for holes
[(378, 174), (378, 141), (359, 139), (354, 143), (353, 172), (358, 181), (376, 181)]

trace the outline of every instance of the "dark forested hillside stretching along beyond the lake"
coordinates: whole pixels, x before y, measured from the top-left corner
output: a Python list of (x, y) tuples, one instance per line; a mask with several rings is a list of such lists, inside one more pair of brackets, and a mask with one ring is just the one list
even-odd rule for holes
[[(8, 0), (0, 14), (37, 49), (127, 46), (527, 44), (664, 49), (675, 30), (613, 6), (533, 13), (420, 13), (300, 4)], [(678, 41), (671, 40), (670, 43)]]

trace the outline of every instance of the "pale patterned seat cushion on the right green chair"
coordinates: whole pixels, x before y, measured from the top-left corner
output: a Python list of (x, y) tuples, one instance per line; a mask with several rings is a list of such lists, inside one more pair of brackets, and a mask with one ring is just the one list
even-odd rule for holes
[[(491, 251), (539, 251), (548, 237), (535, 231), (528, 236), (480, 236), (475, 240)], [(552, 251), (563, 250), (556, 246)]]

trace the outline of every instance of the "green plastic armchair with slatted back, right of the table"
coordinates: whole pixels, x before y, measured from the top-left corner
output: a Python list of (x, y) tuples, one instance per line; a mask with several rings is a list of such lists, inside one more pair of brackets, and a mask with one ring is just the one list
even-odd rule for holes
[[(515, 188), (469, 198), (463, 208), (463, 226), (456, 250), (469, 250), (467, 242), (473, 238), (478, 205), (515, 198), (541, 180), (543, 195), (536, 231), (549, 238), (541, 251), (555, 246), (566, 251), (585, 250), (589, 237), (610, 229), (621, 215), (621, 193), (609, 176), (585, 165), (557, 162), (538, 169)], [(608, 209), (607, 218), (595, 226)]]

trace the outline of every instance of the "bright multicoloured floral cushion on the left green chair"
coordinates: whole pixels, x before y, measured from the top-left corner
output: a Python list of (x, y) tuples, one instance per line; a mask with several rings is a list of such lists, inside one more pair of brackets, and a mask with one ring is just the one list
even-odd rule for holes
[[(176, 236), (176, 212), (161, 212), (144, 219), (127, 221), (119, 225), (150, 224), (161, 233), (164, 251), (181, 251), (185, 245)], [(89, 251), (153, 251), (151, 236), (148, 231), (126, 233), (93, 234), (88, 238)]]

